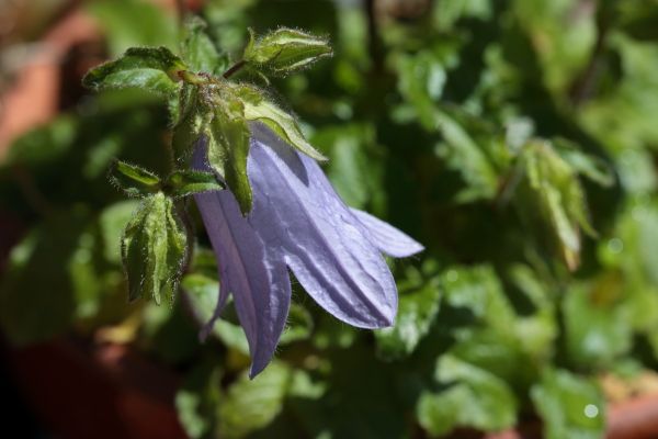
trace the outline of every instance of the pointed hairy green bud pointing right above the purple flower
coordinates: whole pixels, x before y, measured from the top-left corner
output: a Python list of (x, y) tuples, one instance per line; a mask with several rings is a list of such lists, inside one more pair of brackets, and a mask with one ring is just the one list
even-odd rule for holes
[(272, 75), (285, 76), (332, 55), (326, 38), (306, 32), (281, 27), (260, 38), (250, 34), (242, 59)]

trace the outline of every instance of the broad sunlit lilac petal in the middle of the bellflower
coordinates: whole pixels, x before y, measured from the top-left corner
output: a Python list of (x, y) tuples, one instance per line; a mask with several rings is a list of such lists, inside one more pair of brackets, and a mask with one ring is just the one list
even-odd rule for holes
[(266, 245), (283, 247), (298, 281), (329, 313), (364, 328), (392, 325), (397, 312), (395, 281), (361, 223), (315, 160), (262, 125), (250, 127), (253, 228), (268, 230)]

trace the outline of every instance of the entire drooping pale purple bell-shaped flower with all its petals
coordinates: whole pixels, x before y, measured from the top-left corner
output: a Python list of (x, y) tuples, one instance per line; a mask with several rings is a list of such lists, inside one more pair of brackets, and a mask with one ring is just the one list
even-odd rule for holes
[[(337, 318), (361, 328), (393, 325), (395, 281), (382, 252), (407, 257), (422, 246), (387, 223), (348, 207), (318, 164), (253, 123), (247, 217), (228, 190), (194, 195), (219, 271), (216, 318), (232, 294), (251, 353), (250, 375), (270, 362), (291, 303), (288, 268)], [(205, 142), (193, 167), (208, 170)], [(208, 327), (213, 325), (211, 322)]]

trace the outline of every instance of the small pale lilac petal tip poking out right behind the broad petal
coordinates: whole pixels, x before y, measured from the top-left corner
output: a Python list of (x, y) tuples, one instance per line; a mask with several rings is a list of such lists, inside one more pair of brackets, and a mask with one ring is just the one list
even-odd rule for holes
[(350, 211), (363, 225), (365, 233), (370, 236), (375, 247), (386, 255), (395, 258), (406, 258), (424, 250), (424, 247), (418, 241), (390, 224), (358, 209), (350, 207)]

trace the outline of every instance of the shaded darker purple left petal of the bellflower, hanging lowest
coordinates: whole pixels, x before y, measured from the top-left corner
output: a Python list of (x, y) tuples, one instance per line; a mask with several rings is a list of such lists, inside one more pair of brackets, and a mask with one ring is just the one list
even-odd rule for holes
[[(198, 144), (193, 167), (207, 170), (204, 144)], [(240, 324), (249, 341), (253, 378), (270, 362), (285, 326), (291, 283), (282, 255), (263, 240), (240, 213), (230, 191), (195, 194), (217, 258), (222, 306), (232, 293)]]

